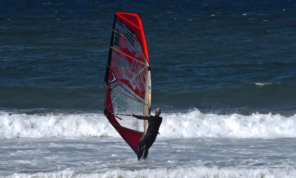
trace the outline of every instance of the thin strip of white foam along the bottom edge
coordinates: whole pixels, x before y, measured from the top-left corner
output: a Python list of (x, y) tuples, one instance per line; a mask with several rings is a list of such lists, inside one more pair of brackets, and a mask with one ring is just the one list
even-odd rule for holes
[[(99, 171), (93, 173), (81, 173), (73, 169), (65, 169), (57, 172), (38, 172), (35, 174), (12, 174), (8, 177), (12, 178), (27, 178), (27, 177), (142, 177), (142, 178), (162, 178), (162, 177), (196, 177), (196, 178), (225, 178), (225, 177), (294, 177), (296, 174), (295, 169), (271, 169), (271, 168), (258, 168), (258, 169), (246, 169), (246, 168), (208, 168), (205, 166), (190, 166), (190, 167), (176, 167), (176, 168), (155, 168), (155, 169), (140, 169), (140, 170), (124, 170), (116, 169), (111, 171)], [(3, 176), (0, 176), (3, 177)]]

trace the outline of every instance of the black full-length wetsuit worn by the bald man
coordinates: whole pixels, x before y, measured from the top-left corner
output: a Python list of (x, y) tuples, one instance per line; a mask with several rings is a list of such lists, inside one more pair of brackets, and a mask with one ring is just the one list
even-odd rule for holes
[[(146, 159), (148, 155), (148, 150), (152, 146), (153, 142), (156, 139), (156, 136), (160, 127), (161, 122), (163, 121), (162, 117), (159, 117), (158, 115), (155, 116), (139, 116), (139, 115), (133, 115), (133, 117), (136, 117), (137, 119), (142, 120), (148, 120), (148, 129), (146, 135), (141, 139), (137, 146), (137, 157), (138, 160), (140, 160), (142, 154), (143, 159)], [(144, 148), (144, 153), (142, 152), (142, 149)]]

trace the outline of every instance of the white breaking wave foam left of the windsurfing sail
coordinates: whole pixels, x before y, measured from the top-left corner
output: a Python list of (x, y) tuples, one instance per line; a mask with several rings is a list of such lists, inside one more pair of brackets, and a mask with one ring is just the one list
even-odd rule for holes
[(46, 138), (54, 136), (119, 136), (102, 114), (26, 115), (0, 114), (0, 139)]

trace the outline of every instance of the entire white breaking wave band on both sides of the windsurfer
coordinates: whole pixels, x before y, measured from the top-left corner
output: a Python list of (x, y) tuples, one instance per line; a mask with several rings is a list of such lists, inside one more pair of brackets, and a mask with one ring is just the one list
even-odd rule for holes
[[(216, 115), (198, 110), (163, 113), (160, 138), (296, 138), (296, 114)], [(120, 137), (103, 114), (26, 115), (0, 114), (0, 139), (48, 137)]]

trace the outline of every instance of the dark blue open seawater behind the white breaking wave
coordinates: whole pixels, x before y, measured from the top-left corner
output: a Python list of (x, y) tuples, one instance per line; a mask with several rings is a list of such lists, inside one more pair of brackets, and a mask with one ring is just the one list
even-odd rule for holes
[(296, 113), (296, 3), (2, 1), (0, 108), (102, 112), (116, 11), (140, 13), (152, 109)]

